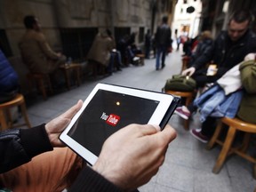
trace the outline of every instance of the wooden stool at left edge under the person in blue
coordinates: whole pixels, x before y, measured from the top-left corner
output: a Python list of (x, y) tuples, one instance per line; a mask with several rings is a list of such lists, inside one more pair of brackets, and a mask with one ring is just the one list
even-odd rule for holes
[[(12, 116), (11, 116), (10, 109), (16, 106), (20, 107), (21, 109), (21, 115), (24, 117), (24, 120), (25, 120), (24, 124), (16, 124), (16, 125), (12, 124)], [(24, 125), (27, 125), (28, 128), (31, 128), (31, 125), (28, 120), (25, 100), (22, 94), (18, 93), (13, 100), (0, 104), (0, 119), (1, 119), (0, 124), (1, 124), (2, 131), (8, 128), (20, 127)]]

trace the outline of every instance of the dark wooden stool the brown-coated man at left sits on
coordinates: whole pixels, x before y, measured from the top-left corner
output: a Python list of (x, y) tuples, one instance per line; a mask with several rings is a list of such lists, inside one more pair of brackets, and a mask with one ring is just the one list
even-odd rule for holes
[(30, 89), (32, 87), (32, 82), (36, 81), (36, 85), (37, 85), (36, 87), (39, 87), (39, 90), (43, 94), (44, 100), (47, 100), (47, 93), (46, 93), (45, 87), (48, 86), (50, 92), (52, 93), (52, 84), (51, 84), (50, 77), (46, 74), (40, 74), (40, 73), (29, 73), (27, 77), (28, 77), (28, 84)]

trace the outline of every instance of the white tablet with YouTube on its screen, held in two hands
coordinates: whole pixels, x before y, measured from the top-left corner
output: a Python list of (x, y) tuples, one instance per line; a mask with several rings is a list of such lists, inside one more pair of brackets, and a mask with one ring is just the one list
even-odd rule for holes
[(128, 124), (168, 123), (179, 98), (114, 84), (97, 84), (60, 140), (94, 164), (105, 140)]

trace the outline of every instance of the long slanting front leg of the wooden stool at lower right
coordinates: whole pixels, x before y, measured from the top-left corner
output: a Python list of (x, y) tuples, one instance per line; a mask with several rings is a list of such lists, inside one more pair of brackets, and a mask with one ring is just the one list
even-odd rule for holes
[(228, 128), (228, 134), (226, 136), (226, 139), (225, 139), (222, 149), (220, 151), (220, 155), (218, 156), (218, 159), (212, 169), (212, 172), (214, 172), (214, 173), (220, 172), (220, 169), (228, 156), (228, 151), (231, 148), (231, 145), (233, 143), (235, 135), (236, 135), (236, 128), (230, 126)]

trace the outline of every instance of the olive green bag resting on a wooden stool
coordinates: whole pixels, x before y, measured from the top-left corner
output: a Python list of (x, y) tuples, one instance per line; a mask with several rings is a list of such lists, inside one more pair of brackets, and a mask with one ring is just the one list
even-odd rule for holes
[(196, 81), (190, 76), (173, 75), (164, 85), (165, 91), (193, 92), (195, 89)]

